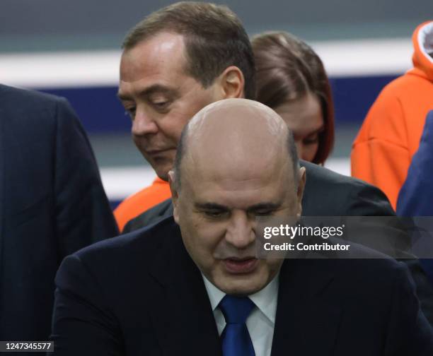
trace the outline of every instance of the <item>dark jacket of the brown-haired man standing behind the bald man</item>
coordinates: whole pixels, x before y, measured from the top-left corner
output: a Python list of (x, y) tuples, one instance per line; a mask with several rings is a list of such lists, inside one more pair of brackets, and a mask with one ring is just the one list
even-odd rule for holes
[[(366, 182), (335, 173), (319, 165), (301, 160), (306, 168), (306, 186), (302, 199), (304, 216), (395, 216), (383, 192)], [(173, 215), (171, 199), (163, 201), (127, 223), (123, 233), (154, 224)], [(377, 230), (376, 230), (377, 231)], [(400, 227), (392, 233), (400, 234)], [(403, 237), (404, 238), (404, 237)], [(409, 238), (409, 237), (408, 237)], [(413, 257), (413, 256), (412, 256)], [(433, 325), (433, 287), (417, 259), (406, 256), (422, 311)]]

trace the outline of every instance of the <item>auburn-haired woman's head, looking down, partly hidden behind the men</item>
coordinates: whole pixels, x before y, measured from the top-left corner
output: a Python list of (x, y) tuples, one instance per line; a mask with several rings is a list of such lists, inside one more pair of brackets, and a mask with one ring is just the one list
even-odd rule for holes
[(251, 42), (256, 100), (284, 119), (299, 158), (323, 165), (334, 145), (334, 109), (321, 59), (288, 32), (265, 32)]

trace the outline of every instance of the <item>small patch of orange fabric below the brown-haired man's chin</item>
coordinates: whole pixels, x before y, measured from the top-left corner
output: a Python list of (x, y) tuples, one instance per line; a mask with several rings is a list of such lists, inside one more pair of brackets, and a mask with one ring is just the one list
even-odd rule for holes
[(168, 182), (156, 177), (151, 186), (146, 186), (141, 191), (128, 196), (115, 208), (114, 215), (119, 230), (122, 231), (129, 220), (170, 197)]

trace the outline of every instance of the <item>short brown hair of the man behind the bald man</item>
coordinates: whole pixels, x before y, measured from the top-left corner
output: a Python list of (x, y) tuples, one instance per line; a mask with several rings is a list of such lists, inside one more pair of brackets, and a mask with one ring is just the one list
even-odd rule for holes
[(226, 6), (181, 1), (151, 13), (129, 31), (122, 48), (132, 49), (139, 42), (160, 32), (183, 35), (188, 75), (204, 88), (229, 66), (241, 69), (247, 99), (255, 97), (253, 50), (241, 20)]

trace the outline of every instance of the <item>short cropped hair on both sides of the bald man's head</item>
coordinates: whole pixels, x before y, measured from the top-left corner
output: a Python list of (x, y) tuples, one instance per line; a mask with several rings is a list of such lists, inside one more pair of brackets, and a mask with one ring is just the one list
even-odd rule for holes
[[(186, 146), (187, 146), (187, 134), (189, 122), (183, 127), (182, 133), (180, 134), (180, 139), (178, 143), (178, 149), (176, 150), (175, 161), (173, 164), (173, 171), (175, 172), (175, 189), (180, 191), (180, 166), (182, 165), (183, 157), (185, 156)], [(299, 156), (298, 151), (296, 150), (296, 144), (294, 142), (293, 133), (287, 128), (287, 138), (286, 138), (286, 147), (289, 158), (291, 159), (293, 174), (294, 174), (294, 186), (295, 191), (298, 189), (299, 184)]]

